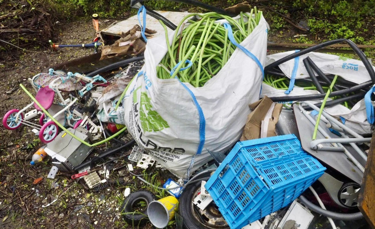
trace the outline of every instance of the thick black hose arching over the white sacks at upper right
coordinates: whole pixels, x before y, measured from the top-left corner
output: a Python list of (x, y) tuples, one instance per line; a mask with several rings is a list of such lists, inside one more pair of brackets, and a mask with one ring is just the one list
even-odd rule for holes
[(363, 64), (365, 65), (367, 71), (369, 72), (369, 75), (370, 75), (370, 78), (371, 78), (371, 81), (373, 82), (373, 84), (375, 84), (375, 71), (370, 63), (370, 61), (366, 58), (366, 55), (365, 53), (362, 52), (361, 49), (359, 49), (358, 46), (356, 46), (356, 44), (354, 44), (352, 41), (348, 40), (348, 39), (336, 39), (336, 40), (332, 40), (332, 41), (327, 41), (327, 42), (323, 42), (319, 45), (316, 45), (316, 46), (312, 46), (312, 47), (309, 47), (309, 48), (306, 48), (304, 50), (301, 50), (299, 52), (295, 52), (293, 54), (290, 54), (288, 56), (285, 56), (279, 60), (276, 60), (275, 62), (267, 65), (265, 67), (265, 72), (267, 72), (268, 70), (288, 61), (288, 60), (291, 60), (291, 59), (294, 59), (295, 57), (297, 56), (301, 56), (301, 55), (304, 55), (306, 53), (309, 53), (309, 52), (312, 52), (312, 51), (315, 51), (315, 50), (318, 50), (320, 48), (323, 48), (325, 46), (330, 46), (330, 45), (333, 45), (333, 44), (336, 44), (336, 43), (340, 43), (340, 42), (346, 42), (353, 50), (354, 52), (358, 55), (358, 57), (362, 60)]

